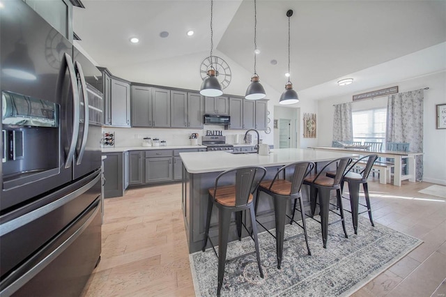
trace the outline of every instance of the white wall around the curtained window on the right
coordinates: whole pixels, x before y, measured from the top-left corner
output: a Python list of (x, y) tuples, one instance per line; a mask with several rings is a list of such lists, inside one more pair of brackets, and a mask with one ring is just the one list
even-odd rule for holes
[[(424, 91), (423, 180), (446, 185), (446, 129), (436, 129), (436, 105), (446, 103), (446, 72), (443, 71), (441, 73), (407, 79), (402, 82), (379, 86), (374, 88), (374, 90), (384, 89), (389, 86), (398, 86), (399, 92), (429, 87), (429, 90)], [(364, 90), (364, 92), (374, 90)], [(318, 146), (331, 146), (334, 113), (334, 107), (332, 105), (351, 102), (353, 95), (352, 93), (346, 96), (318, 100)], [(387, 97), (380, 97), (354, 102), (352, 108), (354, 110), (360, 110), (386, 106)]]

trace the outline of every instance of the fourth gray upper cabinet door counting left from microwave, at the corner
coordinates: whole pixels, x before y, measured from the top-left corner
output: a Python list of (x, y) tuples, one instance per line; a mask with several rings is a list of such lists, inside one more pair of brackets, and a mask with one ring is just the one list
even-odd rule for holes
[(132, 126), (152, 126), (152, 88), (132, 86)]

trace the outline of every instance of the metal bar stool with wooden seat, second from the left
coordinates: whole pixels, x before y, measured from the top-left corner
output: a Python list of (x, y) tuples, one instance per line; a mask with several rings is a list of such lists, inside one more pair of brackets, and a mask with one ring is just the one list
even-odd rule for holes
[[(293, 178), (291, 178), (291, 181), (287, 181), (286, 179), (279, 179), (279, 174), (282, 174), (282, 172), (285, 173), (287, 168), (294, 169)], [(302, 181), (305, 178), (305, 176), (307, 176), (307, 174), (309, 174), (309, 172), (311, 172), (313, 168), (314, 168), (313, 162), (295, 162), (289, 165), (285, 165), (284, 167), (280, 168), (277, 171), (274, 178), (272, 178), (272, 181), (262, 181), (259, 185), (259, 189), (257, 190), (256, 207), (255, 207), (256, 213), (257, 213), (257, 206), (259, 204), (260, 192), (265, 192), (266, 194), (270, 195), (274, 201), (276, 235), (274, 236), (258, 220), (256, 220), (256, 222), (258, 222), (261, 225), (261, 227), (263, 227), (263, 229), (266, 229), (266, 231), (268, 231), (268, 233), (271, 234), (276, 239), (278, 269), (280, 269), (280, 264), (282, 263), (282, 256), (284, 252), (285, 217), (290, 218), (289, 215), (286, 215), (286, 205), (289, 204), (289, 201), (291, 201), (291, 199), (295, 199), (294, 208), (296, 202), (298, 200), (300, 202), (300, 210), (298, 211), (300, 211), (302, 215), (302, 225), (293, 220), (294, 211), (293, 211), (293, 218), (290, 218), (291, 219), (290, 224), (292, 222), (295, 222), (296, 224), (298, 224), (298, 226), (304, 229), (305, 243), (307, 243), (308, 254), (309, 255), (312, 254), (309, 250), (309, 245), (308, 245), (307, 224), (305, 223), (305, 215), (304, 215), (305, 209), (300, 196), (300, 187), (302, 186)], [(300, 235), (302, 234), (299, 234), (297, 236)], [(291, 236), (290, 238), (286, 238), (286, 240), (295, 237), (296, 236)]]

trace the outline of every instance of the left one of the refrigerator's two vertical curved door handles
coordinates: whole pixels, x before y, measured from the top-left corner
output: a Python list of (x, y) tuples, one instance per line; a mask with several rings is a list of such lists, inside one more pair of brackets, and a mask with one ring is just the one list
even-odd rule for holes
[(76, 82), (75, 66), (73, 66), (72, 64), (71, 56), (67, 53), (65, 53), (65, 61), (67, 63), (68, 73), (70, 74), (70, 82), (72, 89), (72, 104), (73, 104), (72, 135), (71, 135), (70, 149), (68, 150), (68, 155), (65, 160), (65, 168), (70, 168), (72, 163), (72, 158), (75, 155), (77, 135), (79, 134), (80, 102), (79, 102), (79, 90), (77, 89), (77, 82)]

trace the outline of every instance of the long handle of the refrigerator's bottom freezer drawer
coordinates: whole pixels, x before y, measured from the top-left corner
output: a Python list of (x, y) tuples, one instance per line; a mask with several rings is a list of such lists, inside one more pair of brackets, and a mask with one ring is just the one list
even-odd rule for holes
[(70, 245), (84, 232), (84, 230), (89, 227), (89, 224), (93, 219), (95, 218), (96, 214), (100, 210), (100, 207), (97, 205), (95, 206), (95, 211), (92, 215), (90, 215), (89, 219), (82, 224), (79, 229), (77, 229), (70, 237), (67, 238), (66, 241), (64, 241), (59, 247), (57, 247), (55, 250), (53, 250), (50, 254), (47, 255), (42, 261), (40, 261), (36, 266), (31, 268), (29, 271), (26, 271), (24, 275), (19, 277), (17, 280), (15, 280), (12, 284), (10, 284), (8, 287), (3, 289), (1, 291), (1, 296), (11, 296), (15, 293), (18, 289), (20, 289), (26, 282), (29, 282), (33, 277), (35, 277), (40, 271), (43, 271), (43, 269), (48, 266), (48, 264), (51, 264), (54, 259), (56, 259), (63, 251), (65, 251), (67, 248), (70, 247)]

